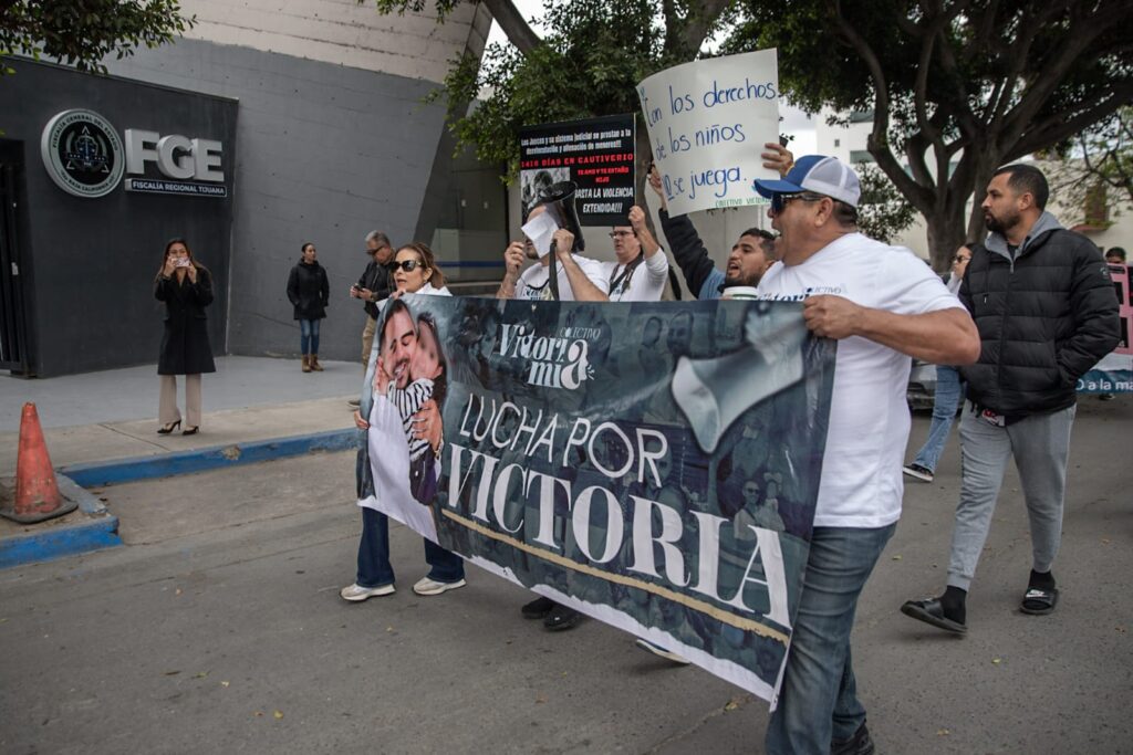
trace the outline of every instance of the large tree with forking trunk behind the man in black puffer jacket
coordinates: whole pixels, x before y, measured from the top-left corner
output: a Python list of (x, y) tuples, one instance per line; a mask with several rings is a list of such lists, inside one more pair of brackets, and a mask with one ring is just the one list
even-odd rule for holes
[(1133, 100), (1133, 0), (744, 0), (738, 20), (725, 50), (778, 48), (793, 102), (872, 113), (868, 149), (938, 271), (982, 231), (966, 204), (998, 166)]

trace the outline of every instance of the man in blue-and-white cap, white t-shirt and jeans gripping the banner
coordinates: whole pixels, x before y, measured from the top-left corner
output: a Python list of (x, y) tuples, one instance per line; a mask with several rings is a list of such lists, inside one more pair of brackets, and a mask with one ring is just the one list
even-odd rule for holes
[(923, 261), (858, 232), (861, 189), (844, 163), (808, 155), (756, 188), (783, 234), (782, 264), (764, 275), (760, 298), (802, 301), (807, 327), (838, 341), (810, 555), (766, 750), (872, 753), (850, 633), (901, 516), (909, 358), (970, 364), (980, 340)]

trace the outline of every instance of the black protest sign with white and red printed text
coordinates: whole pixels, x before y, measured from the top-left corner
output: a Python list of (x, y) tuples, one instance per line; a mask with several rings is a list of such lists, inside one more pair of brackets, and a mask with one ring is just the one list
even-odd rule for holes
[(519, 130), (522, 217), (552, 183), (573, 181), (582, 225), (629, 225), (637, 204), (633, 114), (606, 115)]

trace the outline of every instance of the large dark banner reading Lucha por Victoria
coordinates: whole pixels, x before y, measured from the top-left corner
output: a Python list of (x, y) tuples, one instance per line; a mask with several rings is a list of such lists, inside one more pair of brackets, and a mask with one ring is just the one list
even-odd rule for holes
[[(795, 302), (407, 295), (375, 337), (359, 505), (772, 700), (835, 349)], [(409, 441), (429, 397), (443, 434)]]

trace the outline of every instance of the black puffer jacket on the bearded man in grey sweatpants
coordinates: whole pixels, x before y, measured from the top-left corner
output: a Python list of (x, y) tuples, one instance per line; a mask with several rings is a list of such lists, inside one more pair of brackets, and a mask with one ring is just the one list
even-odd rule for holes
[(1043, 213), (1012, 260), (993, 233), (960, 288), (980, 332), (968, 397), (1010, 419), (1072, 406), (1077, 378), (1117, 345), (1117, 297), (1101, 252)]

